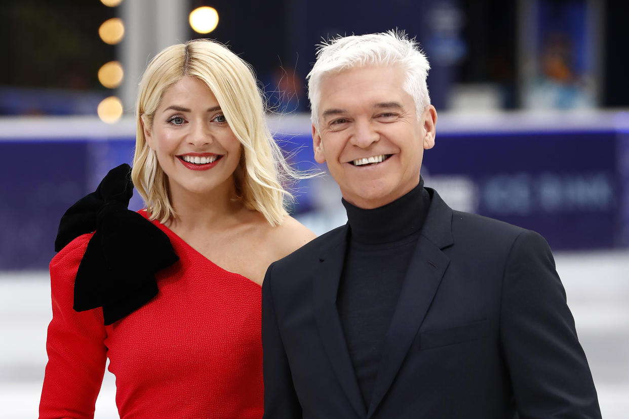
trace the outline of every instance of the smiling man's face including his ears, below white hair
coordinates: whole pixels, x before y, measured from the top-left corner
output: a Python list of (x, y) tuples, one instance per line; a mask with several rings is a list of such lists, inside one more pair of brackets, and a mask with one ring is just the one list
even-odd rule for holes
[(365, 66), (321, 80), (315, 160), (327, 162), (357, 207), (381, 207), (413, 189), (423, 150), (435, 144), (437, 111), (430, 105), (418, 117), (404, 78), (397, 66)]

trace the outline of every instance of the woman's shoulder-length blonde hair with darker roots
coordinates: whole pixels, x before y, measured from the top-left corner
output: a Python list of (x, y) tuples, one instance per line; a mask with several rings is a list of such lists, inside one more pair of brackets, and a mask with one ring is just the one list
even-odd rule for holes
[(150, 218), (163, 223), (177, 214), (170, 203), (167, 176), (148, 146), (142, 119), (147, 129), (152, 129), (164, 92), (186, 76), (196, 77), (213, 92), (231, 131), (242, 144), (234, 179), (245, 206), (262, 213), (271, 226), (282, 224), (286, 215), (284, 199), (292, 199), (282, 181), (301, 177), (287, 164), (270, 134), (253, 69), (225, 46), (209, 40), (165, 48), (148, 64), (140, 82), (131, 178), (147, 204)]

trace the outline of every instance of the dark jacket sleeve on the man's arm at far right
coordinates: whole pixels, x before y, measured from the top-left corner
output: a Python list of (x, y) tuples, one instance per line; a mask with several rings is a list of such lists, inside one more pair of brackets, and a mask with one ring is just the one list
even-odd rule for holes
[(555, 261), (532, 231), (516, 238), (506, 262), (500, 333), (521, 419), (601, 417)]

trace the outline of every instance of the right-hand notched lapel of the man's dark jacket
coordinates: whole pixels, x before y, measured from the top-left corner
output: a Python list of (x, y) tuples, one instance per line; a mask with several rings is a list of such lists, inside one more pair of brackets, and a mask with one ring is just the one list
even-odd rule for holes
[(450, 263), (442, 249), (453, 242), (452, 209), (437, 192), (426, 189), (432, 202), (385, 338), (367, 418), (374, 414), (398, 374)]

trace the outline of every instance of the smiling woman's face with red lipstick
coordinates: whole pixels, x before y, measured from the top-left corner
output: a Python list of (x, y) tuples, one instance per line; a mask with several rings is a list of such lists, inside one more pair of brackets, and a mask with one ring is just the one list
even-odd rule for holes
[(169, 87), (144, 133), (168, 176), (173, 205), (193, 195), (231, 197), (242, 147), (204, 82), (186, 76)]

